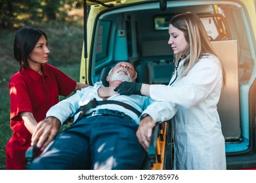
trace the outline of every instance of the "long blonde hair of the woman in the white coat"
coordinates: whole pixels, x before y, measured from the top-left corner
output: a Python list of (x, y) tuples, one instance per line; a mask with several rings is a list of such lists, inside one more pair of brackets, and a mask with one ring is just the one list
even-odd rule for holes
[(181, 77), (186, 76), (202, 56), (213, 54), (221, 63), (223, 86), (225, 86), (226, 73), (224, 71), (223, 63), (213, 50), (200, 18), (192, 12), (184, 12), (174, 16), (171, 19), (170, 24), (184, 33), (184, 37), (190, 46), (190, 58), (184, 63), (184, 70), (181, 73)]

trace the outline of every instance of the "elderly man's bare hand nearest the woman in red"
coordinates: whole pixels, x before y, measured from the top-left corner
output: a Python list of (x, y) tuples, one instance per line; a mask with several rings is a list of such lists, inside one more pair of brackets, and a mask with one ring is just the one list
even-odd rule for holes
[(37, 148), (40, 148), (42, 151), (46, 146), (53, 141), (53, 139), (60, 131), (60, 121), (57, 118), (49, 117), (45, 120), (42, 120), (37, 124), (35, 131), (32, 135), (32, 143), (37, 145)]

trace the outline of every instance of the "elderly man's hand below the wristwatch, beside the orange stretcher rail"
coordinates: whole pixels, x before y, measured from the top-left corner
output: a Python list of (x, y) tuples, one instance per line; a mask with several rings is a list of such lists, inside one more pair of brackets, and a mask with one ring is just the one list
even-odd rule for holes
[(148, 150), (148, 146), (150, 144), (150, 137), (152, 135), (152, 131), (155, 125), (156, 123), (150, 116), (146, 116), (140, 121), (140, 125), (136, 135), (142, 148), (144, 148), (144, 150), (146, 151)]

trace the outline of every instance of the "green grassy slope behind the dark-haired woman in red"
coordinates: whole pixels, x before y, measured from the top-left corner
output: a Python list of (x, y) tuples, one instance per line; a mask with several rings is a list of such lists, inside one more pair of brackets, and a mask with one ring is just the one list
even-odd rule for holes
[[(79, 80), (79, 63), (83, 44), (83, 27), (49, 23), (35, 25), (47, 33), (51, 50), (49, 63), (66, 73), (74, 80)], [(11, 137), (9, 80), (20, 68), (13, 57), (12, 45), (16, 29), (0, 29), (0, 169), (5, 169), (5, 145)], [(60, 97), (64, 99), (64, 97)]]

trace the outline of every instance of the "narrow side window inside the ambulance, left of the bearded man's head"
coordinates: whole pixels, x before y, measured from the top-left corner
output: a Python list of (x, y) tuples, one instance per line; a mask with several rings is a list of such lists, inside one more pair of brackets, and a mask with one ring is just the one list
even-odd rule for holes
[(96, 62), (108, 58), (108, 42), (110, 39), (111, 31), (110, 21), (101, 21), (98, 27), (98, 34), (96, 35)]

